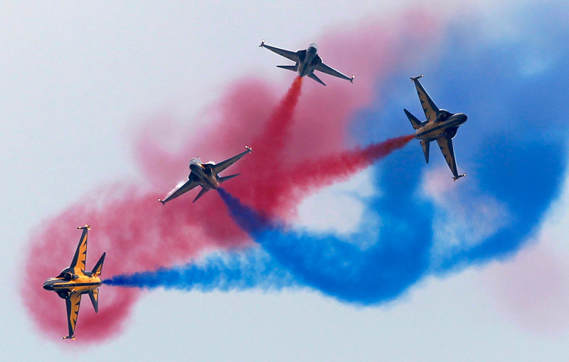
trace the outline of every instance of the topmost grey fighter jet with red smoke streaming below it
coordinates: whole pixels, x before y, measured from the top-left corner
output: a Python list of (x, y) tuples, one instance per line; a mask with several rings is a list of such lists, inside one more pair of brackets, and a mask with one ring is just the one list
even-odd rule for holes
[(350, 78), (349, 76), (340, 73), (338, 70), (335, 70), (334, 68), (331, 68), (328, 65), (322, 63), (322, 58), (320, 58), (317, 54), (318, 46), (314, 43), (310, 44), (307, 49), (291, 51), (275, 48), (274, 46), (267, 46), (267, 44), (265, 44), (265, 39), (263, 39), (261, 41), (260, 47), (267, 48), (277, 53), (278, 55), (282, 55), (285, 58), (288, 58), (296, 63), (294, 65), (277, 65), (278, 68), (293, 70), (294, 72), (297, 72), (301, 77), (308, 75), (308, 78), (316, 80), (321, 85), (325, 84), (314, 74), (314, 70), (319, 70), (322, 73), (334, 75), (334, 77), (349, 80), (350, 82), (353, 82), (353, 78), (356, 78), (356, 75), (352, 75)]

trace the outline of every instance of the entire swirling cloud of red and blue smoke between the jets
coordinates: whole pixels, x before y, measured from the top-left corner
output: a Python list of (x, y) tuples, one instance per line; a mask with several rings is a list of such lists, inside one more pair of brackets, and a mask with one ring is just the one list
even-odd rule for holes
[[(33, 265), (26, 267), (37, 272), (24, 288), (66, 266), (78, 238), (74, 227), (84, 223), (93, 227), (89, 254), (107, 251), (107, 284), (311, 287), (366, 305), (393, 300), (427, 275), (512, 255), (538, 227), (567, 166), (569, 49), (558, 44), (568, 43), (569, 29), (563, 11), (554, 10), (528, 15), (521, 6), (514, 20), (549, 20), (518, 37), (487, 36), (488, 24), (472, 12), (447, 18), (419, 9), (372, 19), (319, 41), (326, 61), (358, 75), (353, 85), (304, 80), (301, 90), (297, 80), (280, 101), (281, 87), (235, 82), (208, 112), (212, 122), (200, 137), (195, 129), (179, 132), (187, 146), (176, 151), (156, 144), (163, 119), (149, 122), (134, 149), (150, 185), (105, 186), (97, 192), (105, 203), (82, 200), (51, 218), (31, 239)], [(439, 107), (469, 116), (454, 139), (459, 171), (468, 174), (457, 183), (438, 149), (425, 165), (418, 142), (403, 147), (409, 137), (383, 154), (357, 147), (413, 132), (403, 108), (420, 115), (409, 77), (421, 73)], [(241, 176), (224, 184), (225, 203), (208, 193), (195, 204), (192, 194), (157, 205), (186, 176), (192, 156), (220, 161), (246, 143), (255, 152), (233, 166)], [(334, 161), (319, 169), (326, 160)], [(381, 193), (364, 201), (366, 217), (381, 218), (376, 228), (362, 223), (340, 237), (292, 226), (302, 199), (372, 165)], [(90, 341), (118, 333), (139, 297), (136, 288), (102, 289), (99, 314), (83, 308), (78, 321), (77, 335)], [(59, 336), (64, 307), (46, 294), (22, 290), (41, 330)]]

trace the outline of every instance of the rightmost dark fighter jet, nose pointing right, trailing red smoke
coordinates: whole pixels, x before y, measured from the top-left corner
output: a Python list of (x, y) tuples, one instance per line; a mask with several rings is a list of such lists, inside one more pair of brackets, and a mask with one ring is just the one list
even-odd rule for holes
[(425, 88), (423, 88), (419, 82), (419, 78), (422, 78), (422, 76), (423, 75), (412, 77), (411, 80), (415, 83), (422, 110), (425, 111), (427, 120), (420, 122), (419, 119), (411, 115), (408, 110), (403, 109), (403, 111), (415, 129), (415, 138), (420, 140), (427, 164), (429, 163), (430, 142), (437, 141), (450, 167), (450, 171), (452, 171), (452, 179), (457, 181), (461, 177), (467, 176), (467, 174), (458, 174), (457, 161), (454, 159), (454, 149), (452, 148), (452, 139), (457, 134), (458, 127), (464, 122), (467, 122), (468, 117), (464, 115), (464, 113), (452, 114), (447, 110), (439, 110), (435, 102), (432, 101)]

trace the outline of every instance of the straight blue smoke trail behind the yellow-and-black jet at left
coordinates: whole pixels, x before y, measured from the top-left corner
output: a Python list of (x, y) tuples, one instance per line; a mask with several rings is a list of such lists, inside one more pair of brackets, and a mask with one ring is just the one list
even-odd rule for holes
[(161, 268), (152, 272), (115, 275), (103, 281), (108, 285), (155, 289), (245, 290), (282, 289), (296, 285), (292, 275), (262, 250), (208, 255), (199, 262), (178, 267)]

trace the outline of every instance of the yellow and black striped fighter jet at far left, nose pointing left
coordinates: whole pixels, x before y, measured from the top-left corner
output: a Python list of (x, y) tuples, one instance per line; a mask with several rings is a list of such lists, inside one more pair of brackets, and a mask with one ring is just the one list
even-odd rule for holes
[(90, 230), (90, 225), (80, 226), (78, 229), (83, 230), (83, 233), (71, 265), (62, 270), (57, 277), (49, 278), (43, 283), (43, 289), (53, 290), (59, 297), (65, 299), (69, 335), (61, 339), (75, 339), (75, 324), (77, 324), (82, 294), (89, 294), (95, 313), (99, 311), (99, 289), (97, 288), (101, 286), (102, 262), (105, 261), (107, 253), (102, 253), (92, 271), (85, 272), (87, 230)]

